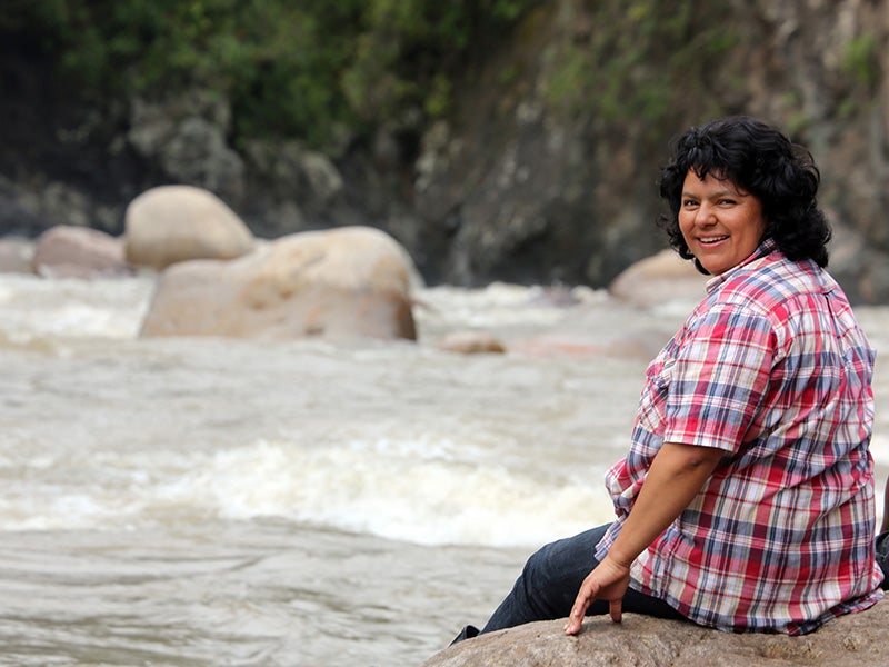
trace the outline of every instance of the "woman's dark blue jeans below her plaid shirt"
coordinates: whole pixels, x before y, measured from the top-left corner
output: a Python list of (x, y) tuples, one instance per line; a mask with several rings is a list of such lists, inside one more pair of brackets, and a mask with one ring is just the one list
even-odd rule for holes
[[(481, 631), (567, 617), (583, 579), (599, 565), (595, 550), (606, 530), (607, 525), (560, 539), (531, 556), (512, 590)], [(685, 618), (663, 600), (632, 589), (627, 589), (623, 596), (623, 611), (658, 618)], [(599, 614), (608, 614), (608, 603), (596, 600), (587, 609), (587, 616)]]

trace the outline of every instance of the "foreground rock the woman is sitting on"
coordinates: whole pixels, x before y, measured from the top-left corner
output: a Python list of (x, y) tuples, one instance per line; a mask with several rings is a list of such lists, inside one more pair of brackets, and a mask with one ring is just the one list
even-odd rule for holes
[(680, 620), (625, 614), (589, 617), (576, 637), (565, 619), (532, 623), (450, 646), (422, 667), (817, 667), (886, 665), (889, 601), (833, 619), (802, 637), (720, 633)]

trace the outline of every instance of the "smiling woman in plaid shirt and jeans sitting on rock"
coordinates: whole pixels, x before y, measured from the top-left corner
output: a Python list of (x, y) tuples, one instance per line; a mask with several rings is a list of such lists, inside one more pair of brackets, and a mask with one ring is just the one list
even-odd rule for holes
[(482, 631), (627, 610), (801, 635), (882, 597), (875, 352), (823, 270), (819, 178), (752, 118), (675, 141), (661, 222), (707, 296), (648, 367), (617, 520), (535, 554)]

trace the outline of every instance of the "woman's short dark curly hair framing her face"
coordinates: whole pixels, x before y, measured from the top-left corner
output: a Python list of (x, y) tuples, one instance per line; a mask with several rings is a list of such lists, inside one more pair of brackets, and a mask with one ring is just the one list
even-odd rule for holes
[(695, 260), (701, 273), (708, 271), (689, 251), (679, 230), (682, 185), (689, 169), (700, 178), (710, 173), (727, 179), (756, 196), (762, 203), (765, 236), (775, 239), (788, 259), (812, 259), (827, 266), (830, 225), (816, 201), (821, 175), (808, 150), (746, 116), (690, 128), (673, 139), (671, 150), (659, 183), (670, 212), (661, 216), (658, 225), (669, 236), (670, 246), (685, 259)]

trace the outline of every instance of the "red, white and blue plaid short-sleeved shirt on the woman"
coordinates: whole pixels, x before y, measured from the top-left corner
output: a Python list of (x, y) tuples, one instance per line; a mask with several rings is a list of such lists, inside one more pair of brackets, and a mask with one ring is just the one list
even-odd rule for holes
[(620, 531), (662, 442), (726, 456), (633, 563), (691, 620), (801, 635), (882, 597), (873, 559), (875, 352), (836, 281), (765, 241), (647, 371), (632, 446), (606, 475)]

